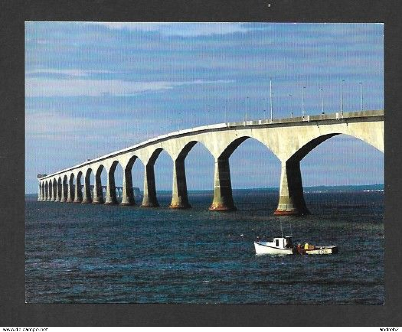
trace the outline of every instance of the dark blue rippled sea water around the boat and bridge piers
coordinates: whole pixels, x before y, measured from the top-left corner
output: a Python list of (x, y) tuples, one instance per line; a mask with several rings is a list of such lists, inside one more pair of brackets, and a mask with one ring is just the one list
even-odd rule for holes
[[(359, 189), (360, 190), (360, 189)], [(235, 191), (237, 212), (26, 201), (28, 303), (382, 304), (384, 193), (308, 192), (312, 212), (275, 217), (278, 193)], [(336, 244), (337, 255), (256, 256), (256, 236)]]

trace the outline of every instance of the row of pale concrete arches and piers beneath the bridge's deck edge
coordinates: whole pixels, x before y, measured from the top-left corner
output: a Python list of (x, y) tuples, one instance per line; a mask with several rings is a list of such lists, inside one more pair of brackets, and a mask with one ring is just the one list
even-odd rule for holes
[[(229, 158), (244, 141), (252, 138), (271, 150), (281, 163), (280, 197), (275, 214), (308, 214), (309, 211), (304, 202), (300, 161), (310, 151), (331, 137), (345, 133), (366, 141), (380, 151), (384, 150), (381, 147), (384, 145), (384, 135), (381, 141), (381, 129), (384, 122), (377, 121), (372, 124), (364, 122), (364, 130), (359, 125), (359, 123), (354, 126), (347, 122), (337, 123), (339, 131), (335, 131), (336, 128), (333, 125), (320, 127), (317, 123), (304, 125), (297, 129), (299, 132), (290, 126), (274, 127), (270, 129), (270, 135), (267, 134), (267, 128), (242, 128), (242, 130), (227, 130), (224, 135), (216, 131), (180, 136), (149, 144), (116, 157), (105, 157), (102, 161), (96, 160), (54, 177), (39, 179), (38, 199), (84, 204), (133, 205), (135, 197), (131, 171), (136, 161), (140, 161), (144, 167), (144, 196), (141, 206), (159, 206), (156, 197), (154, 165), (160, 153), (165, 150), (173, 161), (170, 207), (189, 208), (191, 206), (187, 195), (185, 159), (193, 147), (199, 144), (203, 145), (214, 159), (213, 202), (210, 210), (236, 210), (232, 198)], [(368, 131), (366, 127), (373, 130)], [(123, 178), (120, 188), (115, 183), (115, 171), (118, 165), (120, 165), (119, 169)], [(106, 171), (104, 181), (101, 179), (103, 170)], [(93, 185), (90, 183), (91, 177)]]

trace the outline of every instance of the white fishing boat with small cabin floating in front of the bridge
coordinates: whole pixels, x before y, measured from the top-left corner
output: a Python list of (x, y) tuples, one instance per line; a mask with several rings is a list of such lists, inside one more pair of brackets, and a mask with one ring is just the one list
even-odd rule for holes
[(328, 255), (338, 253), (337, 246), (314, 246), (313, 244), (304, 244), (295, 246), (292, 243), (292, 236), (286, 235), (274, 238), (272, 242), (265, 240), (254, 241), (256, 255)]

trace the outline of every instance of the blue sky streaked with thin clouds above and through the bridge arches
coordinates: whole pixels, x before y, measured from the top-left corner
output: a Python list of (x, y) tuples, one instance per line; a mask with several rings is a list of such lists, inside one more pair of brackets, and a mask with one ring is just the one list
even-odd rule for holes
[[(300, 116), (302, 90), (306, 114), (320, 114), (322, 101), (338, 112), (341, 90), (345, 112), (360, 110), (361, 97), (364, 110), (384, 109), (384, 25), (26, 22), (25, 192), (37, 192), (38, 173), (160, 134), (246, 113), (267, 118), (270, 80), (274, 118)], [(213, 163), (195, 145), (189, 190), (213, 189)], [(234, 151), (230, 171), (233, 188), (279, 187), (279, 160), (253, 139)], [(301, 172), (305, 186), (384, 183), (384, 154), (339, 135), (310, 152)], [(139, 161), (132, 173), (142, 188)], [(157, 190), (170, 190), (166, 152), (155, 173)]]

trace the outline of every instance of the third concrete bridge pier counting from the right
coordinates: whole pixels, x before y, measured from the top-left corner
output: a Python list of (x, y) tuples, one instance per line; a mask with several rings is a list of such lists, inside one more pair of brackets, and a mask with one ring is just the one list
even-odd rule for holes
[(189, 197), (187, 195), (186, 170), (184, 158), (178, 158), (173, 163), (173, 188), (171, 209), (191, 208)]

